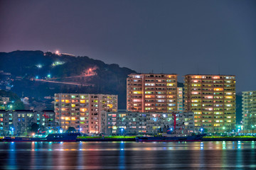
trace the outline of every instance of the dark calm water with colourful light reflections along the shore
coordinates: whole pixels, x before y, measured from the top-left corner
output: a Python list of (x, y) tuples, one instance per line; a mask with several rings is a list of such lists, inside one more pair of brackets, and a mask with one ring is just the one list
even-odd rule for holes
[(256, 169), (256, 142), (0, 142), (0, 169)]

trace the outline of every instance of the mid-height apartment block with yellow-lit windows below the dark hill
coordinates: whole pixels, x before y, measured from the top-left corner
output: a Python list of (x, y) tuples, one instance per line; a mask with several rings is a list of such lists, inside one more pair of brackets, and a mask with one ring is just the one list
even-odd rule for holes
[(117, 95), (55, 94), (55, 119), (60, 127), (80, 132), (100, 132), (100, 112), (117, 111)]

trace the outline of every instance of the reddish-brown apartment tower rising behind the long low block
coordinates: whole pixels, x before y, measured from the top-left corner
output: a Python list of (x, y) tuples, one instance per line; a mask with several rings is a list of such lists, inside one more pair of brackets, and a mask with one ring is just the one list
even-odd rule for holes
[(177, 74), (129, 74), (127, 110), (164, 113), (177, 111)]

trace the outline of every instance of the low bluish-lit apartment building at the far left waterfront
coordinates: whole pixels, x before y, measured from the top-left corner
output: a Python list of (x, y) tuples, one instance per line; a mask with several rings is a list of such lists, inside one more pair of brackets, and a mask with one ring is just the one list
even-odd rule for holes
[(0, 135), (26, 135), (33, 123), (45, 128), (55, 127), (54, 111), (0, 111)]

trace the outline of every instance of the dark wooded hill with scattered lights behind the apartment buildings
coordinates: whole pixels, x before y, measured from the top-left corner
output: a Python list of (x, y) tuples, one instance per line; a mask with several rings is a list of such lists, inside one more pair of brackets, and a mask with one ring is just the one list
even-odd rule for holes
[(127, 74), (118, 64), (105, 64), (89, 57), (42, 51), (0, 52), (0, 68), (11, 73), (11, 91), (19, 96), (43, 99), (55, 93), (119, 95), (119, 108), (126, 108)]

